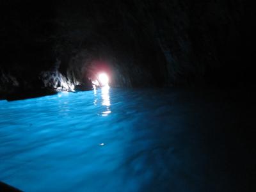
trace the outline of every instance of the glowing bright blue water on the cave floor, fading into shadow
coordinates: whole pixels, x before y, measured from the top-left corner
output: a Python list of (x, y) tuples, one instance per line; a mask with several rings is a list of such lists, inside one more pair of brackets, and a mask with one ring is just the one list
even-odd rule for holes
[(0, 180), (24, 191), (200, 191), (205, 157), (184, 102), (113, 88), (0, 100)]

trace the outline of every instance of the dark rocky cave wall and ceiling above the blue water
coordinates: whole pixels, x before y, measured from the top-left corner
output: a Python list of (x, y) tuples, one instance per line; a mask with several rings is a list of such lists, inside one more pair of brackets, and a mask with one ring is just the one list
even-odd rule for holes
[(99, 62), (112, 86), (252, 83), (248, 1), (6, 1), (1, 9), (1, 95), (70, 90)]

